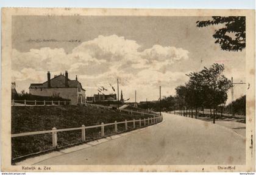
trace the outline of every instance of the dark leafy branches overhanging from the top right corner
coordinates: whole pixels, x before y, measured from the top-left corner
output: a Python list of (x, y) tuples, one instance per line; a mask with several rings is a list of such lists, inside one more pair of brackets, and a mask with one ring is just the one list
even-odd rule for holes
[(245, 16), (212, 16), (212, 20), (197, 21), (196, 24), (197, 27), (224, 24), (225, 27), (215, 30), (213, 34), (213, 38), (216, 39), (215, 43), (218, 43), (222, 50), (241, 51), (246, 47)]

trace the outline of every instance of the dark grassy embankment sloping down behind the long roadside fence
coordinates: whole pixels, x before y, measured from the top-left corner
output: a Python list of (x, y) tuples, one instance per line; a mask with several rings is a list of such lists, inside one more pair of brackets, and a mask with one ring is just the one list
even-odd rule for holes
[[(129, 115), (125, 112), (97, 109), (81, 106), (12, 106), (12, 134), (20, 132), (44, 131), (52, 128), (76, 128), (82, 125), (92, 126), (103, 123), (138, 120), (152, 116), (139, 114)], [(128, 129), (132, 129), (128, 123)], [(136, 124), (139, 125), (138, 122)], [(114, 125), (105, 126), (105, 135), (113, 134)], [(124, 131), (124, 124), (118, 125), (118, 131)], [(58, 146), (71, 145), (81, 142), (81, 131), (58, 132)], [(93, 140), (101, 137), (101, 128), (86, 129), (86, 139)], [(38, 134), (12, 138), (12, 159), (31, 153), (52, 149), (52, 135)]]

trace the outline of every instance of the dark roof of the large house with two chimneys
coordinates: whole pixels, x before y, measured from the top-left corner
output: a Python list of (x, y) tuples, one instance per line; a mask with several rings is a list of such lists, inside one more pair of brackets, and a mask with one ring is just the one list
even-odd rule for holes
[[(51, 79), (51, 87), (66, 87), (65, 86), (65, 76), (64, 75), (58, 75), (54, 78)], [(77, 80), (70, 80), (68, 78), (68, 87), (81, 87), (82, 90), (85, 91), (85, 89), (83, 89), (82, 84), (77, 81)], [(34, 88), (48, 88), (48, 81), (45, 81), (44, 83), (31, 83), (29, 86), (29, 89), (34, 89)]]

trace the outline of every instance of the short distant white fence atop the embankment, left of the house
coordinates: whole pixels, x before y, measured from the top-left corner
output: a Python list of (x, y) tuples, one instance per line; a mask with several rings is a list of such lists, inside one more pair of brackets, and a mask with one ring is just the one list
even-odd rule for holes
[(71, 101), (12, 100), (12, 106), (60, 106), (71, 105)]

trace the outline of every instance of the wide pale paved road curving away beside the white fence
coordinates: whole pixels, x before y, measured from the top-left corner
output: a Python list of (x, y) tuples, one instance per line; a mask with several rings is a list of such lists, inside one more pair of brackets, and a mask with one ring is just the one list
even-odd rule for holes
[(245, 138), (224, 126), (163, 114), (165, 122), (37, 165), (241, 165)]

